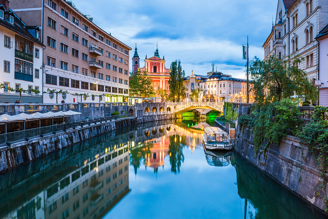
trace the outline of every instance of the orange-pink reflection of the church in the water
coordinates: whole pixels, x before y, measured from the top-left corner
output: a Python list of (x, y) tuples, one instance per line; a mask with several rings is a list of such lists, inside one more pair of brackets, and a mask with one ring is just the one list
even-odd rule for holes
[(146, 155), (145, 166), (153, 167), (156, 171), (159, 166), (164, 166), (164, 158), (168, 155), (170, 139), (165, 138), (164, 135), (150, 141), (153, 142), (153, 147), (150, 149), (151, 153)]

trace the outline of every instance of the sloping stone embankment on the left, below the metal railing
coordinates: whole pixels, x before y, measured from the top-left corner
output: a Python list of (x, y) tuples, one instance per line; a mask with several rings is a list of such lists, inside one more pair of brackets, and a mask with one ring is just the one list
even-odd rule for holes
[(150, 121), (170, 120), (173, 118), (174, 114), (121, 118), (107, 122), (92, 123), (91, 125), (84, 125), (82, 127), (79, 126), (75, 129), (32, 138), (28, 141), (15, 142), (10, 146), (0, 148), (0, 172), (117, 128)]

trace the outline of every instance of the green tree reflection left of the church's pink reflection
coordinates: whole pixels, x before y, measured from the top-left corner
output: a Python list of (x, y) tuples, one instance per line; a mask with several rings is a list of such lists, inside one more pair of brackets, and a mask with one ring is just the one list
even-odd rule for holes
[(130, 148), (130, 165), (134, 168), (134, 174), (137, 174), (141, 161), (145, 164), (146, 155), (150, 154), (152, 147), (153, 142), (145, 142), (143, 146)]

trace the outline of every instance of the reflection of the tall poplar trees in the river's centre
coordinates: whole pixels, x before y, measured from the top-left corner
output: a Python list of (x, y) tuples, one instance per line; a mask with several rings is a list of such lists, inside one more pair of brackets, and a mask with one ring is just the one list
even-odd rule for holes
[(170, 145), (168, 154), (170, 155), (171, 171), (175, 174), (180, 172), (181, 161), (184, 162), (182, 149), (185, 144), (185, 136), (170, 136)]

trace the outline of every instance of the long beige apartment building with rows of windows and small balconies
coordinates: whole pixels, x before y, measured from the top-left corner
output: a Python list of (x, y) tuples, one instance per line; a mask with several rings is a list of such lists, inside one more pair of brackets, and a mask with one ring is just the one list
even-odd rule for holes
[[(44, 91), (68, 91), (58, 95), (58, 102), (127, 102), (129, 46), (99, 28), (72, 1), (12, 0), (10, 8), (41, 30), (47, 46)], [(43, 101), (55, 103), (56, 94), (44, 94)]]

